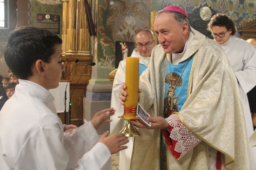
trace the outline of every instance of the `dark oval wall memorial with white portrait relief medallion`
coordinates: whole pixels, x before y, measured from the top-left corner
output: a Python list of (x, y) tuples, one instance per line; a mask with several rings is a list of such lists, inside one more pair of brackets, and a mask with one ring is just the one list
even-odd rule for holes
[(211, 17), (216, 14), (216, 11), (205, 2), (194, 8), (192, 12), (193, 14), (188, 14), (190, 26), (205, 36), (213, 39), (211, 35), (212, 33), (207, 30), (207, 25), (210, 22)]

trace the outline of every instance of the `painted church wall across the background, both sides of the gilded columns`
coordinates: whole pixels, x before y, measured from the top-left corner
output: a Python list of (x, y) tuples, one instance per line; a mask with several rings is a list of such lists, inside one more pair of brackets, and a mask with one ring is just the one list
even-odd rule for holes
[[(114, 3), (113, 3), (114, 2)], [(241, 20), (256, 16), (256, 2), (251, 0), (98, 0), (97, 11), (97, 48), (92, 51), (94, 60), (100, 67), (115, 67), (115, 41), (133, 41), (135, 31), (150, 28), (150, 12), (161, 10), (168, 5), (178, 5), (188, 14), (207, 2), (217, 13), (229, 15), (236, 25)], [(16, 1), (10, 0), (10, 29), (0, 29), (0, 62), (4, 61), (3, 53), (9, 33), (16, 28)], [(60, 15), (60, 34), (62, 32), (62, 3), (60, 0), (30, 0), (29, 24), (36, 25), (37, 13)], [(120, 22), (122, 21), (122, 22)], [(236, 36), (239, 36), (238, 34)], [(0, 73), (1, 73), (0, 68)]]

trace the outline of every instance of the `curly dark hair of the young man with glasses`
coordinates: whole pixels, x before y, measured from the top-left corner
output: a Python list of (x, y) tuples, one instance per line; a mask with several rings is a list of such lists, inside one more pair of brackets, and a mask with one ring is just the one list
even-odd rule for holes
[(212, 32), (213, 26), (218, 26), (218, 27), (224, 26), (227, 28), (227, 30), (231, 29), (232, 30), (231, 35), (234, 35), (236, 33), (236, 27), (235, 27), (234, 21), (225, 14), (219, 13), (214, 15), (211, 18), (210, 22), (208, 23), (207, 30)]

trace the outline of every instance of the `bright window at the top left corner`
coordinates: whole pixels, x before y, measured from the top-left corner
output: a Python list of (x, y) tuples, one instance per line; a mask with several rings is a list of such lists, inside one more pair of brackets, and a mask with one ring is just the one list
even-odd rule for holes
[(0, 28), (9, 28), (8, 3), (9, 0), (0, 0)]

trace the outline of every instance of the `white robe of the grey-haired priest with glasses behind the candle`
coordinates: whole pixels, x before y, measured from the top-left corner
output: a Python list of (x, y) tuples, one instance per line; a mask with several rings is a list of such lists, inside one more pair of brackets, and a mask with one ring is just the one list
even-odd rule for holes
[[(151, 58), (151, 57), (140, 56), (137, 48), (133, 50), (131, 57), (140, 58), (140, 64), (143, 64), (145, 66), (148, 66)], [(118, 95), (120, 94), (121, 83), (125, 82), (125, 70), (126, 70), (126, 59), (120, 61), (118, 69), (115, 74), (114, 81), (113, 81), (111, 107), (113, 107), (116, 111), (115, 111), (115, 114), (110, 118), (112, 119), (112, 122), (110, 122), (111, 134), (119, 133), (126, 123), (126, 121), (120, 120), (120, 118), (118, 118), (118, 116), (124, 114), (124, 106), (120, 104), (120, 99)], [(130, 170), (133, 139), (134, 137), (129, 137), (129, 142), (126, 144), (128, 148), (126, 150), (122, 150), (119, 152), (119, 169), (120, 170)]]

